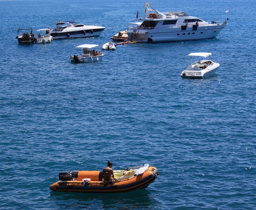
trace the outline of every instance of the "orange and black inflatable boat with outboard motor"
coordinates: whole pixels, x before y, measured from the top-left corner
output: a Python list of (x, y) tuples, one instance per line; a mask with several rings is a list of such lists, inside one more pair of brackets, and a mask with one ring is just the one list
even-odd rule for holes
[(81, 193), (125, 193), (146, 188), (154, 182), (159, 172), (155, 167), (144, 164), (114, 170), (114, 181), (102, 181), (102, 171), (60, 172), (59, 179), (50, 186), (54, 191)]

